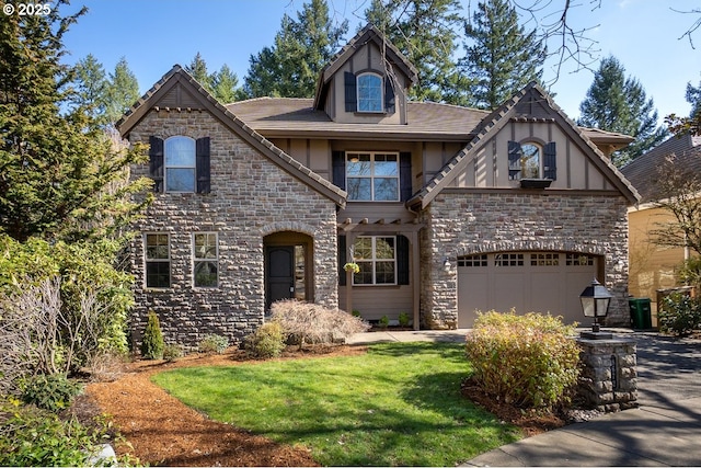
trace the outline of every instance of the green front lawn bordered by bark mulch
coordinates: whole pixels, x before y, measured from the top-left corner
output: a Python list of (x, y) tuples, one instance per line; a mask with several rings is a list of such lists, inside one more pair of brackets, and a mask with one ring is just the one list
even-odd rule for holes
[(325, 466), (451, 466), (519, 438), (460, 395), (457, 343), (366, 355), (192, 367), (153, 380), (210, 418), (303, 445)]

